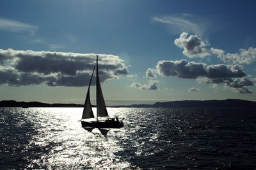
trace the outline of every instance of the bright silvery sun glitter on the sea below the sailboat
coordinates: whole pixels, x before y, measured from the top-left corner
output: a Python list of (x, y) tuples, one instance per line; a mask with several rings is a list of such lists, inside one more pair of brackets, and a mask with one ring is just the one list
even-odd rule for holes
[[(35, 112), (38, 109), (33, 109)], [(39, 124), (38, 134), (32, 141), (36, 145), (52, 146), (51, 150), (33, 164), (47, 168), (127, 168), (115, 153), (122, 150), (116, 137), (122, 137), (124, 129), (111, 130), (107, 137), (98, 129), (88, 132), (81, 128), (81, 108), (44, 108), (44, 118), (38, 116), (33, 124)]]

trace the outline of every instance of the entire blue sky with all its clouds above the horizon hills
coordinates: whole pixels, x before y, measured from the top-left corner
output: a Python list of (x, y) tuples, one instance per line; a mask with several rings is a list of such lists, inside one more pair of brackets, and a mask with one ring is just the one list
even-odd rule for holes
[[(255, 1), (0, 1), (0, 100), (256, 101)], [(91, 99), (95, 101), (95, 81)]]

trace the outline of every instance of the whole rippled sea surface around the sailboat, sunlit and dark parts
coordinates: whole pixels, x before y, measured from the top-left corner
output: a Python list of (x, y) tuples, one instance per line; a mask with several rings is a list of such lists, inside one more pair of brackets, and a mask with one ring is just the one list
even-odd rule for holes
[(0, 108), (1, 169), (256, 169), (256, 109), (108, 108), (124, 128), (86, 130), (82, 108)]

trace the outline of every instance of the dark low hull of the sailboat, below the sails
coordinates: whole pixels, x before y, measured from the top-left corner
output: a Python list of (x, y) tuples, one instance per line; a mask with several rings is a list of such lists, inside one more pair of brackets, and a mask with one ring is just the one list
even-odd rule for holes
[(124, 123), (122, 121), (81, 121), (82, 127), (93, 128), (122, 128)]

